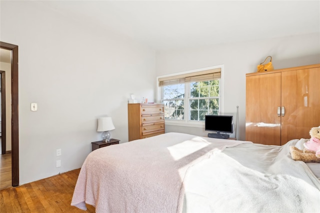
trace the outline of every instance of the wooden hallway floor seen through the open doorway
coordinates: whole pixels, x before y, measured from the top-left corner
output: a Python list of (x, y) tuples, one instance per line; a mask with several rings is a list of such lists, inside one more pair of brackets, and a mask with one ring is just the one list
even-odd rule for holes
[(0, 155), (0, 189), (12, 185), (11, 153)]

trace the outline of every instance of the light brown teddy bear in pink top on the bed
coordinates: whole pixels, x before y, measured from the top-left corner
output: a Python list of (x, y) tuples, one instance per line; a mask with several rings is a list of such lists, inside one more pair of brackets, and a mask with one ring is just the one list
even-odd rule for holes
[(303, 150), (292, 145), (289, 147), (291, 157), (293, 160), (320, 163), (320, 126), (312, 127), (309, 134), (311, 138), (303, 143)]

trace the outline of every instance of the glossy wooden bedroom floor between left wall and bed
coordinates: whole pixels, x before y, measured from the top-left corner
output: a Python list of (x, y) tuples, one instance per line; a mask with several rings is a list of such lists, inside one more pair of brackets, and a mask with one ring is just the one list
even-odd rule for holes
[(87, 205), (86, 211), (70, 205), (79, 172), (80, 169), (75, 169), (2, 189), (0, 212), (95, 212), (91, 205)]

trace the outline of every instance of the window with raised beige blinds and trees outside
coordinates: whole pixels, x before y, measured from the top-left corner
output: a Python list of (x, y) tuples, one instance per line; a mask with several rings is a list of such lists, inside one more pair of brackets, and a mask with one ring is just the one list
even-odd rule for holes
[(166, 120), (204, 121), (205, 114), (220, 114), (221, 67), (161, 76), (157, 81)]

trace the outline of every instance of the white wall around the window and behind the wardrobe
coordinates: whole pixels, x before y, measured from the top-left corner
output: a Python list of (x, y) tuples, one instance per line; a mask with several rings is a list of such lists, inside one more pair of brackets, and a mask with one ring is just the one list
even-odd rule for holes
[[(156, 54), (156, 76), (224, 64), (224, 112), (235, 113), (239, 106), (238, 135), (245, 140), (245, 73), (255, 72), (256, 65), (268, 55), (275, 69), (320, 63), (319, 37), (319, 33), (312, 33), (161, 51)], [(173, 125), (166, 125), (165, 131), (207, 134), (202, 128)]]

